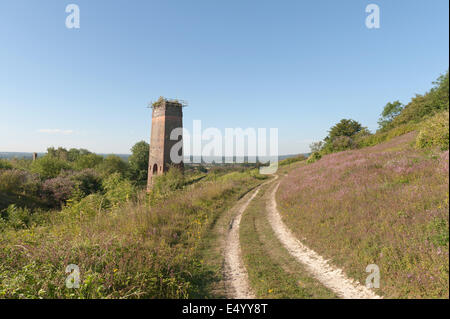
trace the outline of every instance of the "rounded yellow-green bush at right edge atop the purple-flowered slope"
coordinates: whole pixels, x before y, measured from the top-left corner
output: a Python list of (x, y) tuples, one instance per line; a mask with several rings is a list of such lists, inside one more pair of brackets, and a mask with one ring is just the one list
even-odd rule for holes
[(442, 151), (449, 147), (449, 113), (441, 112), (426, 120), (420, 126), (416, 138), (417, 148), (438, 147)]

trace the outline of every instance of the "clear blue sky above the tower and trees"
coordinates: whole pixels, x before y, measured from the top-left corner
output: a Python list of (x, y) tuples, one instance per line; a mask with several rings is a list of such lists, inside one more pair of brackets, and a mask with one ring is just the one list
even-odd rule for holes
[[(80, 29), (65, 26), (66, 5)], [(380, 29), (365, 8), (378, 4)], [(159, 96), (206, 127), (279, 128), (308, 152), (342, 118), (371, 130), (449, 60), (448, 0), (0, 2), (0, 151), (129, 153)]]

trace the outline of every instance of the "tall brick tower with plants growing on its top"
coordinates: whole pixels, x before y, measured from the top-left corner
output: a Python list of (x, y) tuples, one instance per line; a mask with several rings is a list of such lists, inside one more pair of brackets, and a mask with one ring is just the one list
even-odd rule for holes
[[(183, 102), (168, 100), (163, 97), (160, 97), (151, 106), (153, 109), (152, 132), (150, 138), (147, 189), (151, 188), (153, 177), (167, 172), (170, 165), (178, 165), (183, 168), (183, 161), (174, 163), (170, 157), (172, 147), (183, 139), (182, 135), (179, 135), (177, 140), (170, 139), (170, 133), (173, 129), (183, 127), (183, 106), (185, 106)], [(178, 149), (178, 155), (182, 159), (182, 144)]]

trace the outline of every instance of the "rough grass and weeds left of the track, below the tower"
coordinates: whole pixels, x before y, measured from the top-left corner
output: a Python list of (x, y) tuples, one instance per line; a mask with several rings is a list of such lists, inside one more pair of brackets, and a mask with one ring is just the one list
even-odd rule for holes
[[(221, 274), (202, 259), (206, 234), (262, 179), (250, 170), (212, 174), (164, 198), (141, 193), (110, 205), (93, 194), (30, 228), (6, 228), (0, 298), (208, 297)], [(69, 264), (80, 268), (79, 289), (65, 286)]]

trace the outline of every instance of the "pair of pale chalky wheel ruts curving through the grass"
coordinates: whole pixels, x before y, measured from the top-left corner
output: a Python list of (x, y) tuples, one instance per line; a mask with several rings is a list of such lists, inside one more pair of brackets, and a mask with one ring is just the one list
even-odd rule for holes
[[(275, 179), (266, 182), (271, 183), (270, 200), (267, 205), (267, 218), (275, 232), (278, 240), (287, 251), (311, 274), (312, 277), (320, 281), (324, 286), (331, 289), (339, 297), (344, 299), (378, 299), (380, 296), (370, 289), (348, 278), (342, 269), (332, 266), (322, 256), (303, 245), (286, 227), (277, 210), (275, 194), (278, 190), (279, 182)], [(264, 185), (263, 184), (263, 185)], [(247, 209), (250, 202), (260, 191), (262, 185), (254, 191), (244, 196), (232, 208), (232, 219), (226, 231), (225, 239), (225, 280), (229, 287), (229, 298), (251, 299), (256, 298), (249, 284), (247, 270), (242, 261), (241, 247), (239, 242), (239, 225), (242, 214)]]

